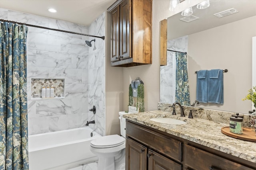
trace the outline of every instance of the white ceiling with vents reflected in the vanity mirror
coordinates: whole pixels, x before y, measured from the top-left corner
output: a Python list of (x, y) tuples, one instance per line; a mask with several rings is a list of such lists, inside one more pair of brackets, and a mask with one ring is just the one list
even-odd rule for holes
[[(213, 15), (231, 8), (239, 12), (223, 18)], [(210, 7), (204, 10), (198, 10), (196, 6), (192, 9), (192, 15), (198, 17), (198, 20), (189, 23), (180, 21), (184, 18), (180, 13), (168, 18), (168, 40), (255, 16), (256, 0), (210, 0)]]

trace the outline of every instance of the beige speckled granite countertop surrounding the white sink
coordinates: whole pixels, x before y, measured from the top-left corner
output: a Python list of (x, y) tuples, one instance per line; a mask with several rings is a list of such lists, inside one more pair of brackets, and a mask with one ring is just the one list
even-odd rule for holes
[[(170, 112), (160, 110), (130, 113), (123, 115), (123, 117), (188, 141), (256, 163), (256, 143), (224, 135), (221, 132), (221, 128), (229, 126), (229, 124), (199, 118), (189, 119), (187, 116), (180, 117), (178, 114), (172, 115)], [(153, 117), (170, 117), (186, 121), (187, 123), (183, 125), (169, 125), (151, 121), (150, 118)]]

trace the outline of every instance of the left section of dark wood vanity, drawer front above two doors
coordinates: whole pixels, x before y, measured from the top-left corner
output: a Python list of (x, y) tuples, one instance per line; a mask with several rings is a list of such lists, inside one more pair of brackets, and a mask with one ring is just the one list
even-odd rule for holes
[(126, 170), (182, 170), (181, 161), (182, 142), (126, 122)]

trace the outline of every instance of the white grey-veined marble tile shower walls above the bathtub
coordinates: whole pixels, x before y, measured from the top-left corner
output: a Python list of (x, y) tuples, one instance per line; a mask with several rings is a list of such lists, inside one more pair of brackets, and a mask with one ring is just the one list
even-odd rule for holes
[[(90, 33), (104, 35), (103, 16), (104, 14), (101, 19), (96, 20), (90, 26)], [(89, 27), (84, 25), (4, 8), (0, 8), (0, 18), (84, 34), (89, 33)], [(95, 121), (100, 121), (96, 123), (99, 129), (97, 132), (103, 134), (105, 127), (103, 120), (105, 107), (104, 41), (96, 38), (97, 52), (90, 51), (92, 57), (89, 60), (88, 46), (85, 43), (88, 39), (92, 38), (29, 27), (27, 36), (29, 135), (82, 127), (88, 120), (88, 114), (91, 115), (88, 110), (91, 104), (99, 107), (98, 113), (101, 114)], [(98, 55), (101, 57), (98, 58)], [(101, 59), (102, 61), (99, 61)], [(31, 78), (65, 78), (65, 98), (31, 100)]]

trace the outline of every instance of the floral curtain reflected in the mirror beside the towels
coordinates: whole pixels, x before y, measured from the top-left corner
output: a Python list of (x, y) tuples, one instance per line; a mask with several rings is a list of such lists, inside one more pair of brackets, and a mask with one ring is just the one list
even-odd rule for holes
[(184, 53), (176, 53), (176, 102), (190, 106), (188, 86), (188, 58)]

